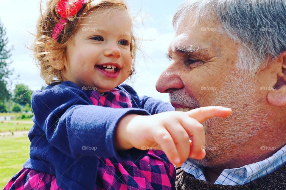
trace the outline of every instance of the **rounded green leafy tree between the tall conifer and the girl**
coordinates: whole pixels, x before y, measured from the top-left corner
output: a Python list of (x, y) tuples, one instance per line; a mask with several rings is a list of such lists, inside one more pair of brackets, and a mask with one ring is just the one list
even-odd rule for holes
[(14, 90), (14, 97), (12, 100), (22, 106), (29, 104), (31, 106), (32, 91), (27, 85), (17, 84)]

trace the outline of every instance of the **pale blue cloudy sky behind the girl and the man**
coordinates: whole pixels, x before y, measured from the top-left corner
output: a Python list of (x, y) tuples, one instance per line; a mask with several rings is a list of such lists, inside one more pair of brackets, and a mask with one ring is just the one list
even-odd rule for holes
[[(40, 14), (39, 0), (0, 0), (0, 18), (6, 28), (9, 43), (13, 47), (11, 68), (14, 69), (12, 79), (15, 84), (24, 83), (32, 91), (46, 85), (40, 77), (40, 70), (35, 65), (31, 47), (35, 33), (36, 21)], [(175, 32), (172, 28), (172, 16), (183, 0), (127, 0), (135, 25), (142, 37), (137, 55), (136, 75), (125, 83), (131, 85), (139, 96), (147, 95), (156, 99), (169, 101), (168, 94), (156, 91), (155, 84), (160, 74), (167, 68), (170, 61), (166, 59), (167, 47)]]

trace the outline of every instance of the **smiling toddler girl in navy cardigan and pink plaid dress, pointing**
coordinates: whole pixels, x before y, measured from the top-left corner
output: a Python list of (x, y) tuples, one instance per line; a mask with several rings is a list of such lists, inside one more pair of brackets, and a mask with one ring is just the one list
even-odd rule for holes
[(171, 162), (202, 159), (200, 122), (229, 110), (174, 112), (120, 85), (137, 50), (121, 1), (48, 0), (37, 27), (33, 50), (49, 86), (32, 95), (30, 158), (4, 189), (174, 189)]

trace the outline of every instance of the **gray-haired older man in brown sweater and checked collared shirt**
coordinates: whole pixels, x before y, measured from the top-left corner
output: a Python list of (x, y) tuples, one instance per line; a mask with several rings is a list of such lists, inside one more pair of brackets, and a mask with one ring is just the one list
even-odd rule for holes
[(175, 108), (230, 107), (203, 123), (206, 157), (177, 189), (286, 189), (285, 0), (185, 1), (156, 88)]

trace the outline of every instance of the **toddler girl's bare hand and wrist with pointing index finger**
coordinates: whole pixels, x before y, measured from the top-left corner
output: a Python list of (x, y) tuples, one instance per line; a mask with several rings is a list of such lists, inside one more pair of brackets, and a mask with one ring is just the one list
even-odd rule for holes
[[(205, 146), (205, 132), (201, 123), (208, 118), (230, 114), (230, 108), (221, 106), (147, 116), (130, 114), (122, 118), (117, 126), (115, 145), (118, 150), (133, 147), (163, 150), (170, 162), (181, 166), (188, 157), (203, 159), (206, 155), (202, 148)], [(192, 143), (189, 137), (192, 137)]]

